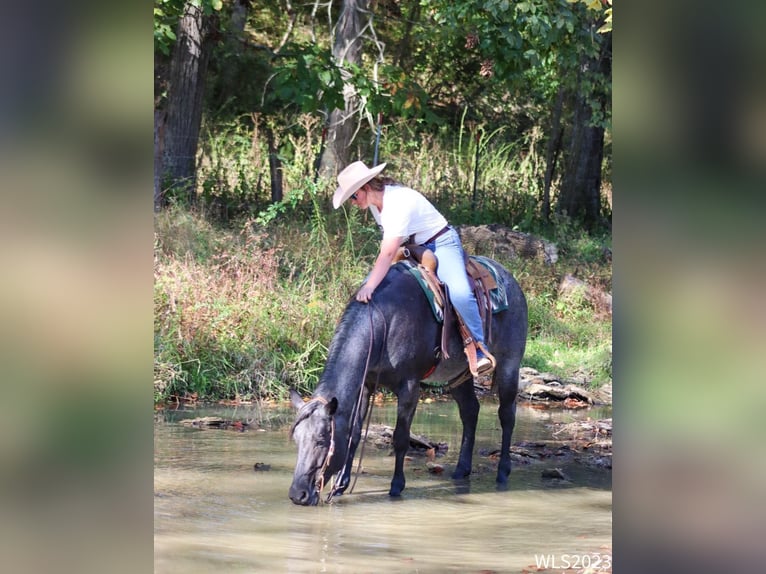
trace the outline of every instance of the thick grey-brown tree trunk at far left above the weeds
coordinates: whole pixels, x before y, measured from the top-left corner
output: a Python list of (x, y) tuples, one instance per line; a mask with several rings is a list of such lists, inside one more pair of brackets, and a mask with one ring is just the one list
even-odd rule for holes
[(174, 195), (195, 200), (197, 143), (210, 55), (210, 20), (191, 1), (178, 25), (170, 64), (162, 179)]

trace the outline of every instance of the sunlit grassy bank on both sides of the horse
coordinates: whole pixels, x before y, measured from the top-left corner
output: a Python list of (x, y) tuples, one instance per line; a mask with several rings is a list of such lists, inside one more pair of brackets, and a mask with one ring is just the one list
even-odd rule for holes
[[(290, 386), (313, 390), (375, 245), (352, 247), (337, 235), (322, 245), (300, 225), (219, 229), (178, 208), (159, 218), (155, 399), (284, 399)], [(351, 256), (357, 250), (365, 252), (359, 259)], [(611, 321), (582, 296), (557, 295), (558, 274), (586, 263), (597, 269), (587, 260), (555, 271), (535, 262), (509, 267), (529, 305), (524, 365), (600, 385), (611, 380)]]

